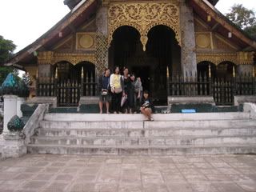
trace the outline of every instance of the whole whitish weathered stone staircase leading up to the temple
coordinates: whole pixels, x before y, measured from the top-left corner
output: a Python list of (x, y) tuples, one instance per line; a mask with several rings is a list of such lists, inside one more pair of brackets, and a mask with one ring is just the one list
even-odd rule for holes
[(255, 154), (249, 113), (45, 114), (33, 154)]

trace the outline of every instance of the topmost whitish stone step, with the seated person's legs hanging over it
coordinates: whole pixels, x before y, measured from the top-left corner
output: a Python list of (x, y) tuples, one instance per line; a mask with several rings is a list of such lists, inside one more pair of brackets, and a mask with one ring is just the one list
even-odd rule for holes
[[(249, 113), (195, 113), (195, 114), (153, 114), (156, 121), (182, 120), (223, 120), (250, 118)], [(46, 121), (77, 121), (77, 122), (137, 122), (145, 120), (142, 114), (45, 114)]]

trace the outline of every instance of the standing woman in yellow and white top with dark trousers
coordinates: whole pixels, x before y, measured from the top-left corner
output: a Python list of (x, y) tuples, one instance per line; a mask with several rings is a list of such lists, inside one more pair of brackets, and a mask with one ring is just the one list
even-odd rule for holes
[(123, 79), (118, 66), (114, 67), (114, 74), (110, 75), (110, 88), (112, 94), (112, 109), (114, 114), (121, 114), (121, 99), (125, 95)]

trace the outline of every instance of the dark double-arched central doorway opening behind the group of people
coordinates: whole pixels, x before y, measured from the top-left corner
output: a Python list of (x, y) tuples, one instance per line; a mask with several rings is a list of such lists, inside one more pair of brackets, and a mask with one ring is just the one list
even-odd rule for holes
[(143, 51), (138, 30), (121, 26), (113, 34), (109, 54), (111, 70), (114, 66), (128, 67), (142, 79), (143, 90), (150, 91), (154, 105), (167, 105), (167, 68), (170, 76), (181, 71), (181, 50), (173, 30), (154, 26)]

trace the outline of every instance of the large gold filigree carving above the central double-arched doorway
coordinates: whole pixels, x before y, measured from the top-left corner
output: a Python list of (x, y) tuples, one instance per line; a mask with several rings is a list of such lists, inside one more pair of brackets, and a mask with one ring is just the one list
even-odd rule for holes
[(169, 26), (181, 45), (178, 1), (171, 2), (113, 2), (108, 10), (108, 44), (114, 31), (120, 26), (133, 26), (141, 35), (143, 50), (146, 50), (147, 34), (154, 26)]

